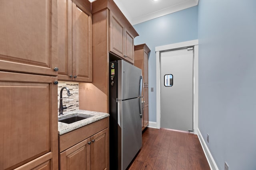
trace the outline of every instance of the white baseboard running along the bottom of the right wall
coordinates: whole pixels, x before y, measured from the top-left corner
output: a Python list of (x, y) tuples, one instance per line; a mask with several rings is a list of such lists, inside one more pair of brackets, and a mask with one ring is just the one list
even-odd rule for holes
[(202, 146), (202, 148), (204, 150), (204, 154), (206, 156), (206, 159), (208, 161), (208, 164), (209, 164), (211, 170), (219, 170), (217, 165), (216, 165), (216, 163), (215, 163), (215, 161), (214, 161), (214, 159), (213, 159), (213, 157), (212, 157), (212, 154), (211, 154), (210, 150), (208, 149), (206, 143), (204, 142), (204, 138), (203, 138), (203, 136), (202, 136), (202, 134), (201, 134), (199, 129), (197, 130), (197, 133), (198, 133), (197, 134), (198, 139), (199, 139), (199, 141), (201, 143), (201, 146)]

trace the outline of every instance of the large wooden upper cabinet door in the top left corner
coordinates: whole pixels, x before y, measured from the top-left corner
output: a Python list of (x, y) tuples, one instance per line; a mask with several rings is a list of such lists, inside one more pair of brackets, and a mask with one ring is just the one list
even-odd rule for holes
[(0, 5), (0, 70), (57, 75), (57, 0)]

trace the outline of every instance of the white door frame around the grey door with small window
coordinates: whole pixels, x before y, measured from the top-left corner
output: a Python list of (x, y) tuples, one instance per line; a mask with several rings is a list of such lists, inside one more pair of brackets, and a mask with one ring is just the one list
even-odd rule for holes
[(163, 51), (174, 50), (184, 47), (194, 46), (194, 89), (193, 89), (193, 127), (194, 134), (198, 134), (198, 39), (192, 41), (184, 41), (169, 45), (158, 46), (156, 51), (156, 128), (160, 129), (160, 53)]

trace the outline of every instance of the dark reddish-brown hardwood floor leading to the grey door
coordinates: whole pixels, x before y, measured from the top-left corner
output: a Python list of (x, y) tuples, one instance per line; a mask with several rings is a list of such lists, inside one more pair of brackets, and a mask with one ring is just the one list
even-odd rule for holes
[(210, 170), (197, 135), (147, 128), (127, 170)]

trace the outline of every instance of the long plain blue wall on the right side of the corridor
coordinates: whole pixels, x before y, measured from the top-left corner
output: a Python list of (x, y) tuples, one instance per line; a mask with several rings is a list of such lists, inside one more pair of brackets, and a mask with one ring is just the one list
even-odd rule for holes
[(256, 170), (256, 1), (198, 4), (198, 127), (220, 170)]

